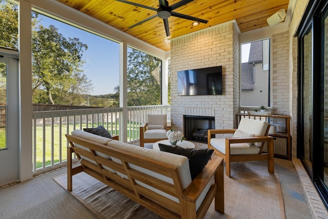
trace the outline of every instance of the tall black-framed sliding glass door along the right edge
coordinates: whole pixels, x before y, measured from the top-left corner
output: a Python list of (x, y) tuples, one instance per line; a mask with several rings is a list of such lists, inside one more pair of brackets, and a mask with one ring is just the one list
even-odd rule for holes
[(298, 30), (297, 156), (328, 209), (328, 3), (309, 4)]

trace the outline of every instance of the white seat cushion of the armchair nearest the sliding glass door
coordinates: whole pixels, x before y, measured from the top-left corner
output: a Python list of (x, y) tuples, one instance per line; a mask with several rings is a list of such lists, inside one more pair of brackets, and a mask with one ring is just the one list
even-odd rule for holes
[[(226, 138), (211, 138), (210, 144), (221, 153), (226, 154)], [(255, 145), (249, 146), (246, 143), (237, 143), (230, 145), (231, 155), (258, 154), (259, 152), (260, 148)]]

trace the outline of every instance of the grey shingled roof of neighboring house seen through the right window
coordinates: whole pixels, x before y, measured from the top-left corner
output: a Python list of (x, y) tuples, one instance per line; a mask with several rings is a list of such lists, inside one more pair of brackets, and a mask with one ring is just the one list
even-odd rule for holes
[(262, 62), (263, 48), (262, 41), (251, 43), (248, 63), (241, 64), (241, 90), (254, 89), (254, 65), (253, 63)]

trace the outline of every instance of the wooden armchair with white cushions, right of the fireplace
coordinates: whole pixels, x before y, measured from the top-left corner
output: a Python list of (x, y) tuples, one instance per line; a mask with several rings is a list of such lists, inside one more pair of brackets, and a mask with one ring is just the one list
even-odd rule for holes
[[(209, 129), (208, 148), (223, 157), (226, 174), (231, 177), (230, 163), (268, 160), (268, 171), (274, 173), (273, 137), (268, 136), (270, 125), (264, 121), (241, 118), (238, 129)], [(214, 134), (234, 134), (233, 137), (211, 138)], [(264, 142), (268, 152), (262, 153)]]

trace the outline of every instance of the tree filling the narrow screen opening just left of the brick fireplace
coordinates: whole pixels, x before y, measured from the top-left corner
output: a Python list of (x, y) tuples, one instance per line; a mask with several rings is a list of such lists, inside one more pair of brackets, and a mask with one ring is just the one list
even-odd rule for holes
[(132, 49), (128, 64), (128, 106), (161, 104), (161, 61)]

